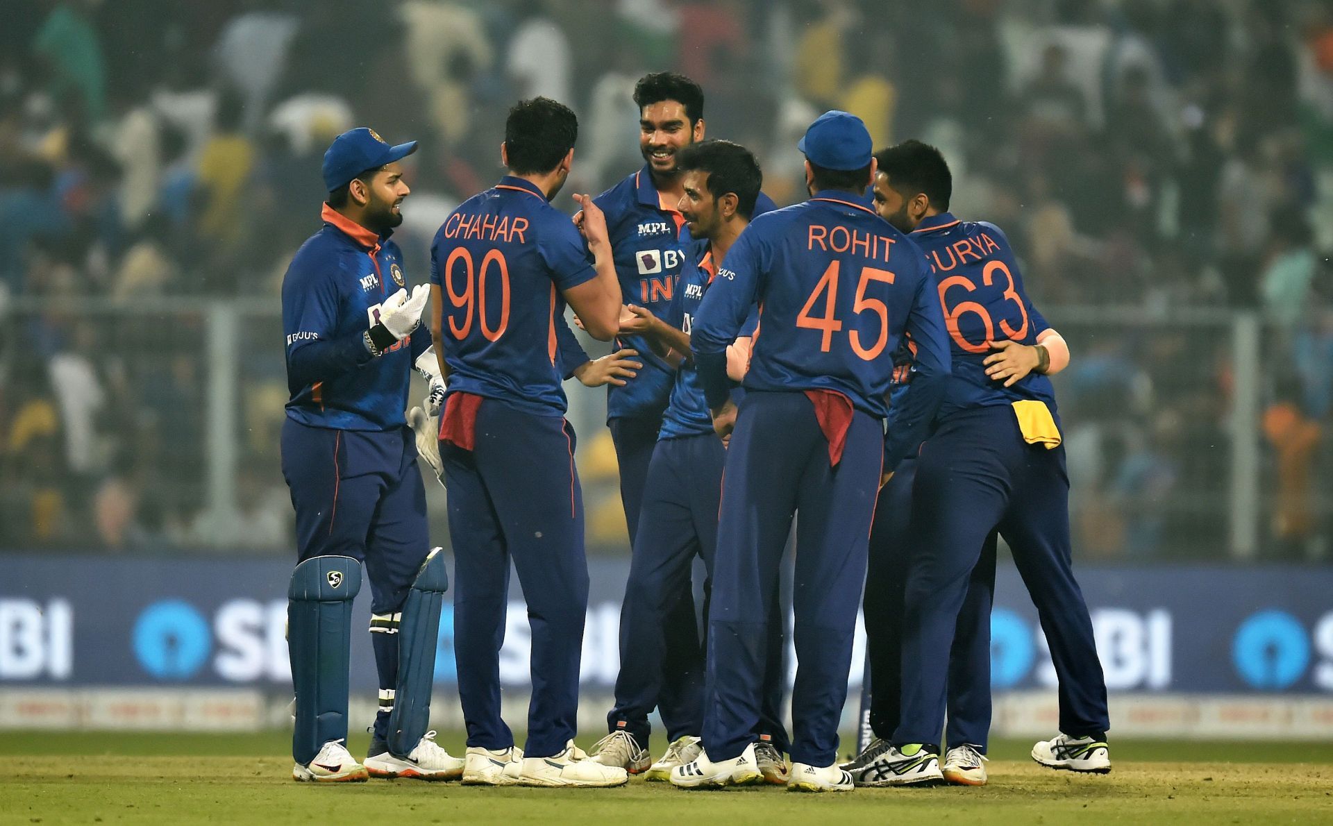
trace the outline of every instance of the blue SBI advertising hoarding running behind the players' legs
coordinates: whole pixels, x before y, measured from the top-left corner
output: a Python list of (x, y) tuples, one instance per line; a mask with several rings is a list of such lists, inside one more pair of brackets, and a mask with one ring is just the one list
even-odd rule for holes
[[(452, 560), (451, 560), (452, 569)], [(628, 560), (592, 560), (584, 683), (619, 666)], [(287, 560), (7, 554), (0, 578), (0, 686), (247, 686), (291, 682)], [(1333, 693), (1333, 569), (1136, 566), (1078, 570), (1113, 691)], [(369, 590), (355, 626), (369, 623)], [(373, 689), (369, 634), (355, 633), (353, 687)], [(452, 612), (436, 679), (455, 681)], [(857, 643), (857, 661), (862, 645)], [(852, 681), (860, 678), (856, 665)], [(528, 683), (528, 627), (515, 589), (501, 678)], [(1001, 566), (992, 618), (996, 689), (1054, 685), (1036, 610)]]

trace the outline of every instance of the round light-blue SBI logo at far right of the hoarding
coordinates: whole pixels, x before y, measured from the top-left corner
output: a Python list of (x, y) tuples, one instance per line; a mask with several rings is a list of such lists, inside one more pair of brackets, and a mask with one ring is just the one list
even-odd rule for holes
[(1316, 687), (1333, 689), (1333, 613), (1324, 614), (1313, 633), (1292, 614), (1269, 609), (1249, 616), (1232, 639), (1232, 665), (1246, 685), (1280, 691), (1305, 675), (1314, 653), (1321, 662), (1310, 671)]

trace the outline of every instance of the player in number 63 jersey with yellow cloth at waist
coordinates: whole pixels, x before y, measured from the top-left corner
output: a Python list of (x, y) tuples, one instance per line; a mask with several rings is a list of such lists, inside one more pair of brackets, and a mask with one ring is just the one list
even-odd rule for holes
[[(1049, 378), (1069, 364), (1069, 348), (1024, 292), (1005, 234), (948, 212), (952, 181), (937, 149), (906, 141), (885, 153), (880, 172), (876, 187), (890, 222), (910, 230), (934, 268), (953, 373), (917, 458), (900, 723), (877, 762), (884, 777), (938, 777), (950, 669), (938, 653), (968, 623), (960, 612), (969, 582), (993, 578), (986, 557), (998, 533), (1037, 606), (1060, 677), (1061, 733), (1038, 742), (1032, 757), (1053, 769), (1109, 771), (1106, 685), (1070, 566), (1069, 478)], [(986, 569), (980, 577), (978, 565)]]

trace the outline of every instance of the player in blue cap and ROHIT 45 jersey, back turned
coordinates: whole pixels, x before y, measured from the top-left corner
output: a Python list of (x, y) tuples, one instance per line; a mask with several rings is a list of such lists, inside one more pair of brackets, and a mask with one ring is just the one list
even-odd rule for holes
[[(729, 437), (709, 608), (704, 751), (681, 787), (756, 782), (752, 731), (769, 605), (796, 513), (792, 769), (788, 789), (850, 790), (837, 726), (881, 470), (921, 440), (949, 374), (929, 266), (864, 195), (874, 179), (861, 119), (826, 112), (798, 144), (810, 200), (754, 218), (693, 318), (690, 345), (718, 436)], [(726, 346), (760, 306), (745, 398), (730, 400)], [(885, 434), (904, 333), (914, 380)], [(733, 432), (734, 430), (734, 432)]]

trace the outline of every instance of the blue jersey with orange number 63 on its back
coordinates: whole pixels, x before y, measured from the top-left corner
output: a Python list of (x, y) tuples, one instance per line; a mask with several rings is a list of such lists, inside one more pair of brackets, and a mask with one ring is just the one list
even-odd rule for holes
[(912, 240), (934, 270), (936, 290), (949, 332), (953, 376), (946, 384), (940, 416), (1008, 405), (1020, 400), (1044, 401), (1056, 412), (1050, 378), (1028, 373), (1013, 386), (986, 376), (986, 341), (1033, 345), (1050, 328), (1022, 289), (1022, 276), (1009, 240), (994, 224), (960, 221), (948, 212), (921, 221)]

